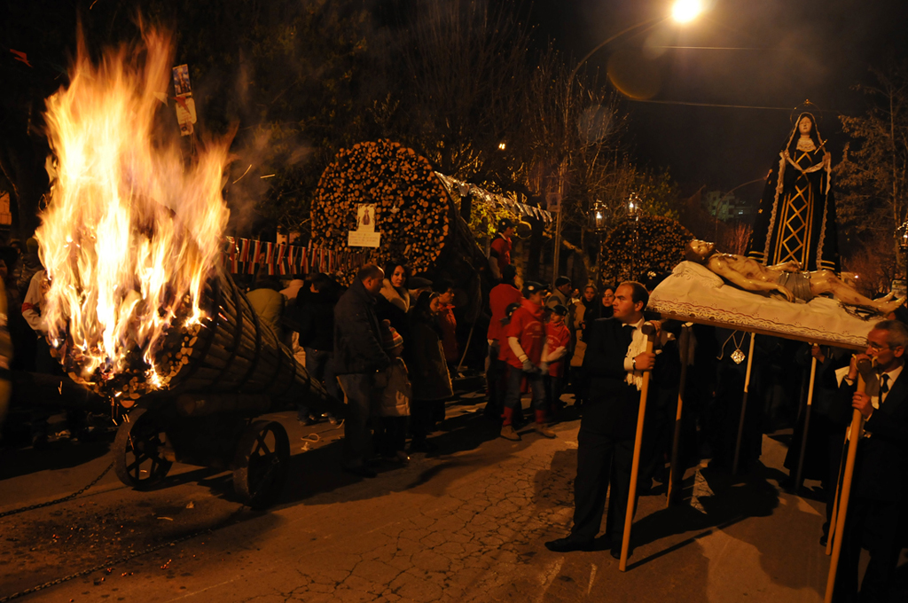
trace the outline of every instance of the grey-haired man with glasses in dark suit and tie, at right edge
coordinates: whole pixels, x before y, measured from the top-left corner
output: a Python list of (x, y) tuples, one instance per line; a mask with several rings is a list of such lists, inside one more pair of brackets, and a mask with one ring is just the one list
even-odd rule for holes
[[(870, 563), (860, 600), (889, 600), (908, 505), (908, 375), (902, 376), (906, 347), (908, 327), (899, 321), (877, 322), (867, 335), (867, 350), (852, 359), (835, 401), (834, 419), (850, 420), (856, 409), (865, 420), (835, 577), (835, 601), (857, 600), (862, 546), (870, 551)], [(856, 391), (857, 361), (864, 358), (875, 361), (878, 392), (875, 388)]]

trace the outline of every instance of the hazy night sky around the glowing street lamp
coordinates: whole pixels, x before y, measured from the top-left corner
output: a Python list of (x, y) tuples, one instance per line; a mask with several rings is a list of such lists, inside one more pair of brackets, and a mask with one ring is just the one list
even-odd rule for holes
[[(559, 50), (579, 58), (631, 25), (666, 15), (669, 6), (666, 0), (537, 0), (531, 20), (540, 37), (551, 36)], [(839, 161), (844, 140), (837, 115), (864, 113), (864, 94), (852, 86), (873, 81), (871, 66), (908, 56), (906, 26), (904, 0), (713, 0), (696, 22), (625, 35), (588, 63), (604, 75), (610, 56), (645, 54), (654, 85), (629, 87), (658, 104), (624, 104), (638, 160), (669, 168), (686, 193), (704, 184), (728, 191), (765, 176), (791, 130), (792, 110), (805, 99), (815, 104), (810, 110)], [(751, 185), (739, 196), (755, 200), (761, 192)]]

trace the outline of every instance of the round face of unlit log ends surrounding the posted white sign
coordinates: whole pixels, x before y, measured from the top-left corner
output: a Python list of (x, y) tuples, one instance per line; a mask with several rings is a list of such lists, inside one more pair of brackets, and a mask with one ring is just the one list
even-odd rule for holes
[[(376, 205), (380, 247), (370, 262), (406, 258), (414, 272), (426, 272), (450, 242), (452, 204), (429, 161), (412, 149), (380, 140), (341, 149), (324, 173), (312, 203), (316, 243), (345, 249), (357, 228), (360, 203)], [(475, 242), (473, 242), (475, 246)]]

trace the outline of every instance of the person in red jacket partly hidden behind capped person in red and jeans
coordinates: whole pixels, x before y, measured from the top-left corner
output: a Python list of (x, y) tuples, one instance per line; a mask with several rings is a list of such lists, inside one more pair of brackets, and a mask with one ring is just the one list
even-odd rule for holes
[(508, 341), (504, 339), (504, 321), (506, 311), (510, 304), (519, 303), (523, 299), (514, 279), (517, 277), (517, 268), (508, 264), (501, 272), (501, 283), (495, 285), (489, 292), (489, 309), (492, 319), (489, 321), (489, 331), (486, 340), (489, 341), (489, 362), (486, 369), (486, 387), (489, 390), (489, 401), (486, 402), (485, 414), (489, 419), (499, 420), (501, 410), (504, 408), (505, 392), (508, 390), (508, 363), (502, 351)]

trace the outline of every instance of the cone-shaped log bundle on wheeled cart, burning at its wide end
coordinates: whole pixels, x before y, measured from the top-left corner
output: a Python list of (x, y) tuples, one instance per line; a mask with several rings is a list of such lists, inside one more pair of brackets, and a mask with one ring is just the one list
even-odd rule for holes
[[(218, 271), (205, 286), (202, 308), (207, 316), (193, 322), (183, 315), (185, 305), (176, 309), (176, 318), (163, 336), (151, 365), (139, 348), (130, 353), (129, 368), (113, 374), (94, 371), (84, 376), (63, 352), (62, 362), (70, 377), (104, 396), (114, 398), (124, 408), (155, 390), (170, 390), (175, 396), (203, 392), (210, 399), (180, 398), (188, 414), (210, 414), (216, 410), (268, 411), (262, 400), (307, 404), (341, 412), (318, 381), (293, 358), (271, 328), (259, 321), (246, 296), (232, 278)], [(226, 395), (231, 394), (231, 395)], [(242, 394), (247, 399), (236, 398)], [(265, 398), (267, 397), (267, 398)], [(183, 408), (185, 407), (185, 408)], [(190, 408), (192, 407), (192, 408)], [(202, 411), (202, 407), (204, 410)]]

